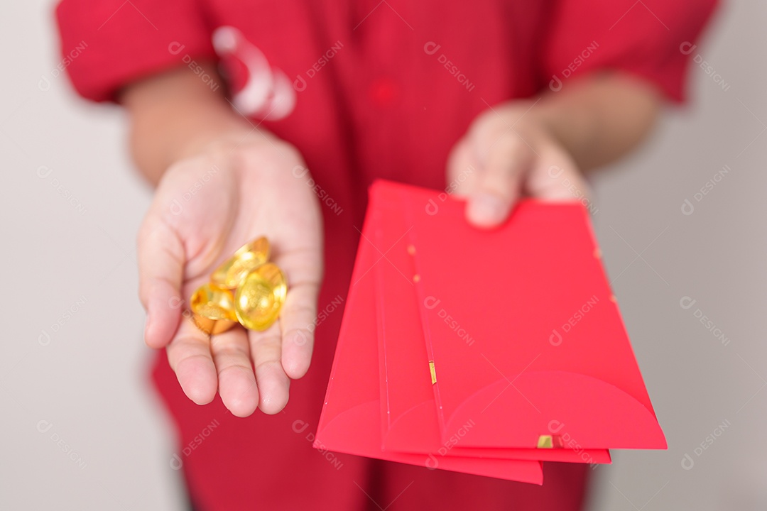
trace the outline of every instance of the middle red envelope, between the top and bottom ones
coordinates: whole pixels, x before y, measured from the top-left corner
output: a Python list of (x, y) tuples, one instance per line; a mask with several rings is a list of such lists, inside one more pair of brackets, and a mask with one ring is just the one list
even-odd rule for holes
[[(385, 195), (384, 195), (385, 197)], [(381, 433), (384, 450), (430, 453), (436, 457), (491, 457), (502, 459), (569, 461), (609, 464), (606, 449), (466, 448), (463, 437), (472, 434), (474, 421), (464, 424), (460, 436), (440, 439), (429, 358), (423, 337), (420, 306), (413, 277), (416, 275), (409, 227), (402, 218), (400, 201), (376, 201), (383, 224), (374, 228), (374, 240), (385, 259), (376, 264), (378, 343), (380, 365)]]

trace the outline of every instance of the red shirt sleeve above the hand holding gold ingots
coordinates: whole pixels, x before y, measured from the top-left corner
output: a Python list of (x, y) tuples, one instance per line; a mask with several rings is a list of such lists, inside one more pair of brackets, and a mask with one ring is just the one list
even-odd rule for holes
[(61, 0), (56, 19), (67, 74), (89, 100), (114, 101), (131, 81), (216, 58), (197, 0)]

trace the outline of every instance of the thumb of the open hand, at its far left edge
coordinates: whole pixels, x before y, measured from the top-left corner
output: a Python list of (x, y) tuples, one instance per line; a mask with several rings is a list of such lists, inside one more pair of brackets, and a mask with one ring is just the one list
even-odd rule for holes
[(184, 250), (176, 233), (150, 213), (138, 236), (139, 297), (146, 309), (144, 340), (162, 348), (179, 328)]

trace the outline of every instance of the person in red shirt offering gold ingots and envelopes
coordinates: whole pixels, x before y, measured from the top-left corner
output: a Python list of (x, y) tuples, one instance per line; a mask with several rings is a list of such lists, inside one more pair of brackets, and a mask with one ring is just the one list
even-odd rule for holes
[[(588, 204), (583, 173), (683, 101), (714, 4), (63, 0), (71, 81), (127, 109), (156, 186), (140, 300), (194, 508), (581, 509), (583, 464), (545, 464), (539, 487), (312, 448), (367, 186), (466, 196), (485, 229), (522, 196)], [(258, 236), (281, 318), (210, 339), (185, 302)]]

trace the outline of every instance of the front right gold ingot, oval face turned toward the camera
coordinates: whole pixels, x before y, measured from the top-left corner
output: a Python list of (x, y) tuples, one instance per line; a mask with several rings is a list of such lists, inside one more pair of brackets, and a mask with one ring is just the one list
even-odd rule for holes
[(265, 330), (277, 320), (288, 286), (276, 264), (262, 264), (235, 291), (235, 314), (247, 329)]

